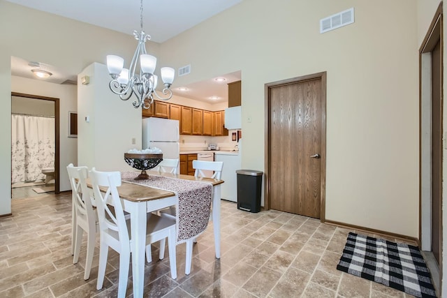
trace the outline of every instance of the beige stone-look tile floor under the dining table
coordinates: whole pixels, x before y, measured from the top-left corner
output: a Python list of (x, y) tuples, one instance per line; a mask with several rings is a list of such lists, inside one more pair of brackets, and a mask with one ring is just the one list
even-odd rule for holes
[[(71, 193), (13, 200), (0, 218), (0, 297), (116, 297), (118, 255), (110, 251), (102, 290), (96, 290), (98, 245), (84, 281), (71, 255)], [(410, 297), (337, 271), (350, 230), (280, 211), (251, 214), (221, 202), (221, 259), (214, 258), (212, 223), (193, 247), (184, 274), (184, 244), (177, 246), (177, 279), (168, 253), (146, 265), (145, 297)], [(158, 248), (152, 249), (158, 260)], [(132, 297), (129, 278), (127, 296)]]

